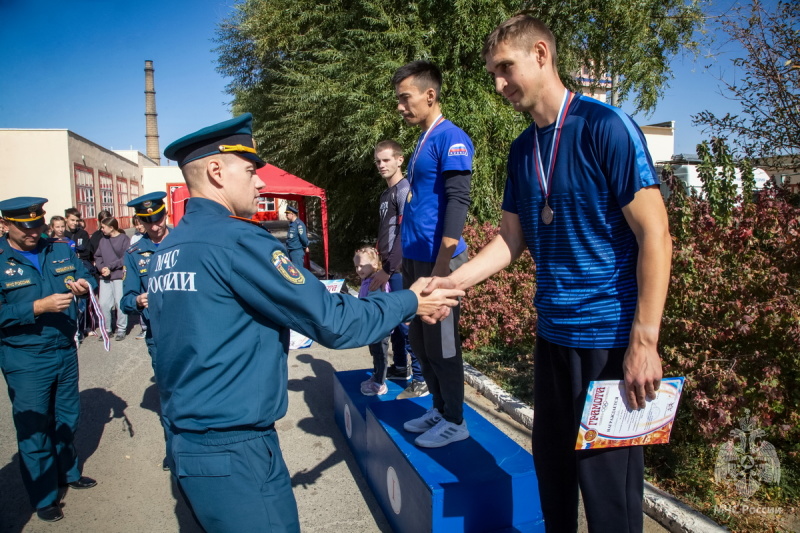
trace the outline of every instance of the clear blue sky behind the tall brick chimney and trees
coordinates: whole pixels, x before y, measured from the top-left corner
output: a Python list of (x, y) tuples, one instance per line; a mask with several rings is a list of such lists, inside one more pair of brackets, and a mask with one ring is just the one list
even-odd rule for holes
[[(720, 13), (735, 0), (722, 0)], [(212, 42), (234, 0), (0, 0), (0, 128), (63, 128), (114, 149), (145, 151), (144, 61), (155, 67), (160, 146), (230, 117)], [(675, 79), (640, 124), (676, 122), (675, 151), (704, 138), (691, 115), (738, 111), (712, 76), (730, 54), (673, 61)], [(623, 109), (630, 112), (628, 106)]]

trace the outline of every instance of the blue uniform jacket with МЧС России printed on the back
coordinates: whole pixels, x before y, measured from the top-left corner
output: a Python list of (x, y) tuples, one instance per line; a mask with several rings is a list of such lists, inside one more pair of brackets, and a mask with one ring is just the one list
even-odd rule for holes
[(411, 291), (330, 294), (280, 241), (221, 204), (189, 200), (150, 260), (156, 381), (173, 431), (267, 427), (286, 414), (289, 330), (332, 348), (413, 317)]

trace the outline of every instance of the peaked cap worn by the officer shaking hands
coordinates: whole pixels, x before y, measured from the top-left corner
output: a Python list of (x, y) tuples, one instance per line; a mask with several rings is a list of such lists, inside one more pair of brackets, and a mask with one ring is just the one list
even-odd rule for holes
[(236, 118), (208, 126), (184, 135), (164, 150), (167, 159), (187, 163), (218, 154), (236, 154), (255, 163), (256, 168), (266, 165), (256, 153), (253, 139), (253, 115), (245, 113)]

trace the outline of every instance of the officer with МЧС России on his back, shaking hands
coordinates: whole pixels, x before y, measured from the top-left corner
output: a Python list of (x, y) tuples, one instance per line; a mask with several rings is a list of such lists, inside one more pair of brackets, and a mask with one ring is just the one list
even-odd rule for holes
[[(325, 346), (377, 342), (458, 292), (411, 290), (367, 299), (330, 294), (249, 219), (264, 183), (251, 115), (170, 144), (191, 193), (150, 260), (156, 382), (169, 423), (173, 476), (209, 532), (299, 531), (275, 421), (286, 414), (294, 329)], [(427, 283), (428, 280), (424, 282)]]

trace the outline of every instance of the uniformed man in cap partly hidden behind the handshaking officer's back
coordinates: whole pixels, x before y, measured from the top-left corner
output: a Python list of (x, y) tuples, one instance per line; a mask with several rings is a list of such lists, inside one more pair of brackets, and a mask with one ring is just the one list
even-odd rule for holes
[[(120, 300), (120, 308), (122, 308), (123, 313), (138, 313), (142, 315), (147, 328), (144, 342), (147, 344), (153, 371), (156, 368), (157, 352), (156, 343), (153, 340), (153, 330), (150, 329), (147, 282), (149, 279), (150, 259), (169, 234), (167, 206), (164, 203), (166, 196), (167, 193), (157, 191), (134, 198), (128, 202), (128, 207), (132, 207), (134, 210), (134, 216), (142, 221), (145, 234), (125, 253), (125, 277), (122, 281), (122, 299)], [(161, 424), (166, 431), (167, 423), (163, 411), (161, 413)], [(162, 461), (161, 467), (164, 470), (169, 470), (166, 457)]]

